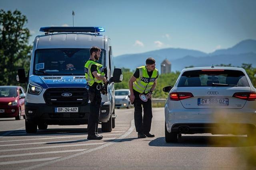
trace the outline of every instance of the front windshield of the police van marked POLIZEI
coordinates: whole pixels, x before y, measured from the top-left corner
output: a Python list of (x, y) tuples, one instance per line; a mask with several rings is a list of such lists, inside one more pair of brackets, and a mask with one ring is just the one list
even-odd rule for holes
[[(102, 49), (97, 63), (105, 65), (106, 51)], [(35, 75), (84, 75), (84, 64), (90, 49), (37, 49), (34, 59)]]

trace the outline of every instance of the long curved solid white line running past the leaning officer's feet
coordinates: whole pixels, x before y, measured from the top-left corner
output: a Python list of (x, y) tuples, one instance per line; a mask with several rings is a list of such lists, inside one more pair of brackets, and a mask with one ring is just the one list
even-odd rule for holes
[(63, 160), (74, 158), (76, 156), (80, 156), (82, 154), (86, 154), (86, 153), (89, 153), (89, 152), (92, 152), (92, 151), (95, 151), (95, 150), (103, 149), (104, 147), (108, 147), (108, 146), (110, 146), (112, 144), (118, 143), (119, 141), (121, 141), (122, 139), (124, 139), (125, 137), (130, 135), (130, 133), (132, 133), (134, 128), (135, 128), (135, 125), (134, 125), (134, 119), (133, 119), (131, 121), (130, 129), (126, 133), (124, 133), (124, 135), (122, 135), (118, 139), (114, 139), (114, 141), (112, 141), (112, 142), (108, 142), (108, 143), (106, 143), (104, 145), (101, 145), (100, 147), (96, 147), (96, 148), (89, 149), (89, 150), (84, 150), (83, 152), (76, 153), (76, 154), (73, 154), (73, 155), (70, 155), (70, 156), (65, 156), (65, 157), (62, 157), (62, 158), (59, 158), (59, 159), (56, 159), (56, 160), (50, 160), (48, 162), (44, 162), (44, 163), (41, 163), (41, 164), (37, 164), (37, 165), (29, 166), (29, 167), (26, 167), (26, 168), (22, 168), (21, 170), (31, 170), (31, 169), (34, 169), (34, 168), (39, 168), (39, 167), (42, 167), (42, 166), (46, 166), (48, 164), (52, 164), (52, 163), (55, 163), (55, 162), (60, 162), (60, 161), (63, 161)]

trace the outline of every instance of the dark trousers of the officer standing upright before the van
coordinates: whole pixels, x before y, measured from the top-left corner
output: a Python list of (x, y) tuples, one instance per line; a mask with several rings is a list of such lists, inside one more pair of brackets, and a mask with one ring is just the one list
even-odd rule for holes
[(94, 100), (90, 103), (90, 114), (88, 118), (88, 126), (87, 131), (88, 135), (94, 135), (98, 132), (98, 123), (100, 119), (100, 104), (101, 104), (101, 94), (100, 90), (97, 90), (94, 87), (90, 87), (88, 90), (89, 98), (92, 97), (93, 94)]

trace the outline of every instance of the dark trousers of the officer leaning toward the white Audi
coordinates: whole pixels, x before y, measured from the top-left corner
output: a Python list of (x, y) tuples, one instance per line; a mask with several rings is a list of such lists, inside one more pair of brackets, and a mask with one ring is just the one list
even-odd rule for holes
[[(142, 106), (143, 106), (143, 118), (142, 118)], [(153, 116), (152, 116), (151, 100), (148, 99), (147, 102), (143, 102), (140, 98), (135, 96), (134, 123), (136, 127), (136, 132), (144, 133), (144, 134), (150, 132), (152, 117)]]

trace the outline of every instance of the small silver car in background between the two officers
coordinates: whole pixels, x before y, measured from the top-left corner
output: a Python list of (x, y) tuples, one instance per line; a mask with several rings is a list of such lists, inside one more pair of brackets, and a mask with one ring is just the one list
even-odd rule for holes
[(129, 96), (130, 95), (130, 90), (129, 89), (119, 89), (115, 90), (115, 105), (116, 108), (120, 109), (120, 107), (126, 107), (129, 109), (132, 104), (130, 102)]

